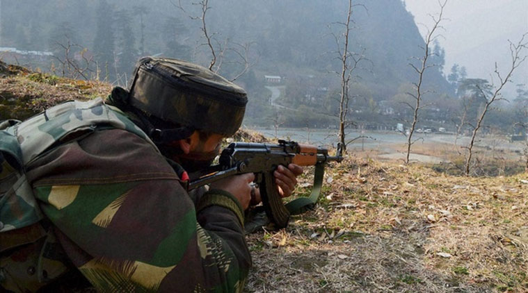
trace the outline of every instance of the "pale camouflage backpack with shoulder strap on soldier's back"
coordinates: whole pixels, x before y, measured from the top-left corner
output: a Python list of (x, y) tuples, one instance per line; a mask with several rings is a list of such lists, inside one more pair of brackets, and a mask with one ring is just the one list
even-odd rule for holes
[(102, 99), (69, 101), (24, 122), (0, 123), (0, 292), (35, 292), (69, 268), (25, 169), (42, 154), (96, 129), (119, 128), (152, 141)]

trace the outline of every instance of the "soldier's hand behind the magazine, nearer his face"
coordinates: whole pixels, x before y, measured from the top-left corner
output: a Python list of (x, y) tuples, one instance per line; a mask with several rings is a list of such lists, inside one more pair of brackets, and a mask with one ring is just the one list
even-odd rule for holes
[(255, 180), (255, 174), (241, 174), (211, 183), (211, 189), (225, 190), (236, 197), (242, 208), (246, 210), (251, 200), (251, 189), (250, 183)]

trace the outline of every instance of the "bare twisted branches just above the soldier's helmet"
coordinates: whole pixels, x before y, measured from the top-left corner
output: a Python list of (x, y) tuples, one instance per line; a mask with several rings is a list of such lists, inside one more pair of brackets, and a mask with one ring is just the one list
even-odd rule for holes
[[(177, 3), (170, 0), (170, 3), (173, 3), (174, 6), (179, 8), (179, 10), (182, 10), (190, 19), (199, 21), (200, 22), (200, 31), (202, 31), (202, 36), (205, 38), (205, 44), (202, 44), (206, 46), (209, 49), (209, 52), (211, 53), (211, 61), (209, 62), (209, 70), (212, 72), (218, 73), (220, 72), (220, 69), (223, 65), (223, 63), (232, 63), (232, 64), (239, 64), (242, 69), (240, 69), (240, 72), (235, 73), (232, 78), (229, 78), (230, 81), (235, 81), (237, 78), (248, 72), (248, 69), (250, 67), (253, 67), (257, 63), (258, 58), (253, 58), (253, 61), (250, 58), (250, 49), (255, 42), (247, 42), (244, 44), (239, 44), (236, 42), (232, 42), (234, 46), (230, 46), (230, 40), (226, 38), (223, 42), (219, 42), (216, 38), (216, 35), (218, 33), (209, 31), (209, 27), (207, 26), (206, 17), (207, 17), (207, 11), (211, 9), (211, 6), (209, 6), (209, 0), (200, 0), (198, 2), (193, 2), (192, 4), (194, 6), (200, 7), (200, 15), (191, 15), (182, 5), (182, 0), (178, 0)], [(216, 45), (215, 45), (216, 44)], [(225, 54), (227, 52), (234, 53), (239, 60), (232, 61), (232, 62), (224, 62)]]

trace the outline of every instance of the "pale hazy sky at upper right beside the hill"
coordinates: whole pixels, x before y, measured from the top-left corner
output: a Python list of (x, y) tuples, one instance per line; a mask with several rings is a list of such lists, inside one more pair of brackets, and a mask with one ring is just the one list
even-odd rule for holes
[[(433, 24), (428, 14), (440, 12), (438, 0), (405, 2), (424, 35), (424, 24)], [(468, 77), (490, 79), (495, 61), (503, 71), (511, 63), (508, 40), (518, 42), (528, 32), (528, 0), (448, 0), (444, 16), (439, 40), (446, 53), (446, 73), (457, 63), (466, 67)], [(528, 64), (514, 73), (514, 83), (528, 83)]]

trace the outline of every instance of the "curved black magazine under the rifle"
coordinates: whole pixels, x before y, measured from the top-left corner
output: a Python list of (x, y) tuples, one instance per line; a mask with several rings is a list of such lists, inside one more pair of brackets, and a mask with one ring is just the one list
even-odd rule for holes
[(289, 211), (282, 203), (282, 198), (275, 185), (273, 173), (264, 174), (262, 183), (259, 183), (260, 196), (266, 215), (278, 228), (288, 226)]

